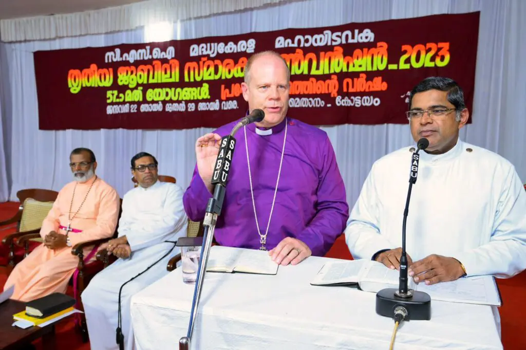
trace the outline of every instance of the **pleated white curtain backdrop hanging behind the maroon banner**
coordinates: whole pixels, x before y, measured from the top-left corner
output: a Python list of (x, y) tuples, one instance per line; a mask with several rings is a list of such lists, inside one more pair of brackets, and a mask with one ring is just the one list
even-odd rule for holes
[[(473, 11), (481, 11), (476, 88), (473, 110), (470, 111), (473, 124), (462, 129), (461, 138), (509, 159), (526, 181), (526, 68), (521, 59), (526, 57), (526, 23), (522, 21), (526, 17), (526, 3), (522, 0), (291, 1), (183, 21), (174, 25), (173, 38), (224, 36)], [(421, 30), (426, 28), (414, 28), (414, 31)], [(97, 173), (113, 185), (120, 196), (132, 187), (129, 159), (139, 151), (157, 156), (159, 173), (175, 176), (177, 182), (186, 188), (195, 165), (195, 140), (210, 129), (38, 130), (33, 51), (141, 43), (143, 33), (144, 29), (136, 29), (45, 42), (4, 44), (7, 62), (3, 61), (0, 70), (8, 72), (4, 78), (8, 79), (11, 88), (11, 96), (5, 101), (11, 198), (22, 188), (60, 189), (71, 178), (69, 152), (79, 146), (93, 149), (99, 163)], [(71, 111), (71, 115), (75, 117), (75, 111)], [(350, 207), (354, 205), (372, 163), (413, 143), (408, 125), (341, 125), (323, 129), (335, 148)]]

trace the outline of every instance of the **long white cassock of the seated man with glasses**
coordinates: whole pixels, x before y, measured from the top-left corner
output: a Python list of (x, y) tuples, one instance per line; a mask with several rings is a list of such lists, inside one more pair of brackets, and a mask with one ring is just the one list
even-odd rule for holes
[[(116, 343), (119, 288), (129, 279), (158, 261), (186, 236), (187, 216), (183, 207), (183, 189), (172, 183), (157, 181), (149, 188), (136, 187), (124, 195), (118, 236), (126, 235), (131, 248), (127, 259), (119, 258), (95, 275), (82, 293), (89, 341), (93, 350), (118, 349)], [(124, 348), (134, 348), (130, 316), (130, 298), (141, 289), (165, 276), (170, 257), (179, 248), (126, 284), (121, 295)]]

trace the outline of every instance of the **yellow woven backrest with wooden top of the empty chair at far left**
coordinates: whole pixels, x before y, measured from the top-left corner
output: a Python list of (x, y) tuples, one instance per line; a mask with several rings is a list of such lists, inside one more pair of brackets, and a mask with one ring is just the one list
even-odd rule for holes
[(19, 231), (30, 231), (42, 226), (42, 222), (53, 207), (58, 192), (49, 189), (22, 189), (16, 193), (22, 211)]

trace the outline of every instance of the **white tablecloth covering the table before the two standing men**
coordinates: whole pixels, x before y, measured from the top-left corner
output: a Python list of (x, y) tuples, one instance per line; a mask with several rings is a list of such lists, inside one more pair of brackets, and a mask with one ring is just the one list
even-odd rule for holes
[[(277, 275), (207, 273), (191, 349), (388, 349), (394, 322), (376, 314), (374, 293), (309, 284), (332, 260), (309, 257)], [(137, 349), (178, 349), (193, 293), (177, 268), (133, 296)], [(403, 322), (395, 349), (502, 349), (490, 306), (432, 301), (431, 313)]]

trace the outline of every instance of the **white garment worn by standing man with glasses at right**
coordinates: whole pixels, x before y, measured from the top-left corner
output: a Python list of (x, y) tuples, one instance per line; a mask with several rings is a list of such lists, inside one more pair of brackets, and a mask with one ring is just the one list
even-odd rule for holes
[[(355, 258), (401, 246), (412, 151), (373, 164), (345, 231)], [(526, 193), (513, 165), (460, 140), (447, 153), (419, 154), (406, 228), (412, 260), (451, 256), (468, 276), (511, 277), (526, 269)]]

